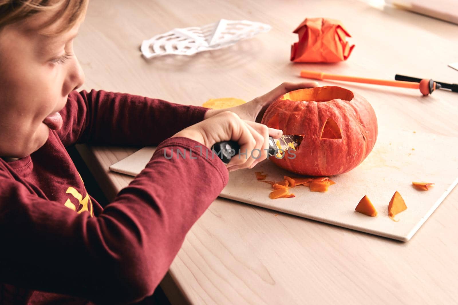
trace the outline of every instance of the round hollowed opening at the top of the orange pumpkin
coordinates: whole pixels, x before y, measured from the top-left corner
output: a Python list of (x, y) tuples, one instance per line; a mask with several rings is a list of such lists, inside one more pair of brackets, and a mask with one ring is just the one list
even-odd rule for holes
[(347, 89), (337, 86), (324, 86), (291, 91), (282, 96), (281, 99), (305, 102), (328, 102), (335, 99), (351, 101), (353, 97), (353, 92)]

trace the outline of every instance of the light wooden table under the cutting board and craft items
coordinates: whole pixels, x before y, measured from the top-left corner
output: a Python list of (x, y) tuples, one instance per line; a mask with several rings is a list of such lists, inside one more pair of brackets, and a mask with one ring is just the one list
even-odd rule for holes
[[(338, 64), (292, 64), (292, 31), (305, 17), (341, 20), (356, 44)], [(217, 51), (144, 60), (143, 39), (220, 18), (262, 21), (272, 30)], [(301, 69), (393, 79), (396, 73), (458, 82), (458, 26), (356, 0), (91, 0), (76, 39), (84, 89), (201, 105), (250, 100)], [(380, 126), (458, 136), (458, 94), (338, 84), (374, 107)], [(111, 199), (131, 177), (108, 166), (134, 149), (78, 148)], [(397, 242), (218, 198), (192, 227), (161, 286), (172, 303), (457, 304), (458, 191), (414, 238)], [(276, 215), (278, 214), (278, 215)]]

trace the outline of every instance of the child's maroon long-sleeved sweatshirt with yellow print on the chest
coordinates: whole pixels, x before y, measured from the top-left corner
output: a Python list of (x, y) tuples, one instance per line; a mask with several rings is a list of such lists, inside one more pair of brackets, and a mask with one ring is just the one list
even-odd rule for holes
[[(153, 294), (228, 181), (212, 151), (169, 138), (202, 121), (206, 110), (74, 91), (60, 111), (63, 128), (50, 130), (44, 146), (17, 161), (0, 158), (0, 304), (124, 304)], [(103, 209), (65, 150), (75, 143), (158, 149)], [(177, 150), (192, 151), (193, 159), (176, 157)]]

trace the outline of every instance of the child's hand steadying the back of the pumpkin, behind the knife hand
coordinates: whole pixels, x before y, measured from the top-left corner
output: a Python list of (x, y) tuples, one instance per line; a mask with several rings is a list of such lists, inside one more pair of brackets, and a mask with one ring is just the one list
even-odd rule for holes
[(273, 89), (270, 92), (267, 92), (263, 96), (258, 96), (254, 100), (247, 102), (243, 105), (231, 107), (227, 109), (210, 109), (205, 113), (205, 119), (214, 116), (215, 114), (231, 111), (236, 113), (240, 118), (244, 120), (249, 120), (252, 122), (260, 123), (264, 112), (266, 112), (267, 107), (272, 104), (273, 101), (277, 99), (278, 96), (282, 96), (289, 91), (294, 91), (304, 88), (313, 88), (318, 86), (316, 81), (311, 82), (302, 82), (302, 83), (283, 83), (277, 88)]

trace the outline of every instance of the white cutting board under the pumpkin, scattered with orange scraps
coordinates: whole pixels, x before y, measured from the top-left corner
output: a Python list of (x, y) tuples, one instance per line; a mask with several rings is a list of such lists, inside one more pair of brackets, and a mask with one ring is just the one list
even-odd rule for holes
[[(412, 150), (414, 149), (414, 150)], [(138, 174), (153, 155), (146, 147), (110, 166), (113, 171)], [(271, 186), (256, 180), (255, 171), (267, 173), (266, 180), (280, 181), (284, 171), (266, 160), (253, 169), (233, 171), (220, 197), (322, 221), (375, 235), (409, 241), (425, 220), (458, 182), (458, 138), (412, 131), (380, 131), (366, 160), (348, 173), (332, 177), (335, 185), (327, 193), (310, 192), (308, 187), (290, 190), (294, 198), (270, 199)], [(429, 191), (418, 191), (413, 181), (433, 182)], [(388, 217), (388, 203), (398, 191), (407, 210)], [(367, 195), (378, 211), (369, 217), (354, 211)]]

